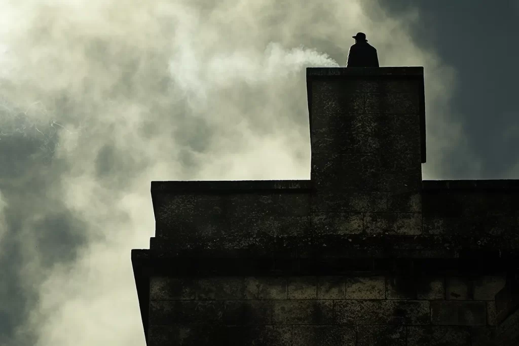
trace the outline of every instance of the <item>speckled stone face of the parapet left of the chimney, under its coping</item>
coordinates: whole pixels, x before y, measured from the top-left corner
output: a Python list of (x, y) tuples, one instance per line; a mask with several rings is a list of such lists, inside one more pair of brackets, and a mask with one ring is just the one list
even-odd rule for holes
[(309, 231), (308, 193), (158, 193), (153, 202), (156, 236), (180, 243), (237, 234), (303, 235)]

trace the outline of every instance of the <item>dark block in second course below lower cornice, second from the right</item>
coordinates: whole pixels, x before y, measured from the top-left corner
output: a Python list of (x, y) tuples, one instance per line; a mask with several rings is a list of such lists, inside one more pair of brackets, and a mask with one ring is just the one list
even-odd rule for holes
[(484, 301), (431, 301), (431, 323), (436, 325), (484, 326)]

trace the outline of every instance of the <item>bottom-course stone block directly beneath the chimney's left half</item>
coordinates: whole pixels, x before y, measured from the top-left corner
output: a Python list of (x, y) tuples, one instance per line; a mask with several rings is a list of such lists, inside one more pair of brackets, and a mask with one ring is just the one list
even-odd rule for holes
[(349, 326), (294, 326), (292, 346), (356, 346), (356, 333)]

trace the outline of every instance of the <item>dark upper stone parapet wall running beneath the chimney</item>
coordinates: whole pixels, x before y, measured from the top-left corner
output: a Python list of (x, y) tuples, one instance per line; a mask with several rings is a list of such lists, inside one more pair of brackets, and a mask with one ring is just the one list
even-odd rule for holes
[(519, 248), (519, 185), (465, 182), (424, 181), (416, 192), (320, 189), (311, 181), (154, 182), (151, 248), (252, 254), (286, 241), (281, 250), (311, 242), (330, 252), (340, 244), (348, 251), (334, 256), (378, 257)]

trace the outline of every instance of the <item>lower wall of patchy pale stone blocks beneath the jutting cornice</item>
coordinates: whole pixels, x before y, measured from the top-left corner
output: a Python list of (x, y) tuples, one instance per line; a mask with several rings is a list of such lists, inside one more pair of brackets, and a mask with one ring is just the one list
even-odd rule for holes
[(484, 345), (503, 275), (155, 276), (148, 345)]

